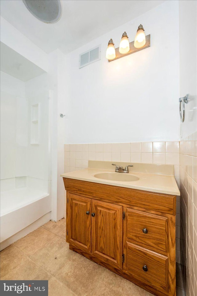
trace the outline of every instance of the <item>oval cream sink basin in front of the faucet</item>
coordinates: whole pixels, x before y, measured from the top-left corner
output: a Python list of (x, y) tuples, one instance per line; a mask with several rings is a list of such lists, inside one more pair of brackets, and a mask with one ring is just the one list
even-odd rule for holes
[(131, 182), (138, 181), (139, 178), (125, 173), (99, 173), (94, 175), (95, 178), (111, 181)]

